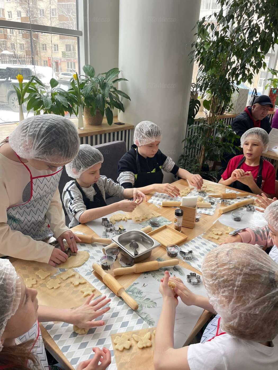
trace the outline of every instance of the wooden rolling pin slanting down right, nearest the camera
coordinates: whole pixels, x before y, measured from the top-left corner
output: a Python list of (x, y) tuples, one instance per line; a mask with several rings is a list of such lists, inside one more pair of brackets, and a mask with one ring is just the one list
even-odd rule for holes
[(113, 277), (110, 274), (107, 274), (102, 269), (102, 267), (98, 265), (97, 263), (93, 263), (92, 267), (95, 270), (95, 272), (98, 273), (102, 277), (103, 283), (105, 283), (105, 285), (110, 290), (112, 290), (112, 292), (116, 294), (116, 296), (122, 297), (125, 303), (133, 310), (138, 309), (137, 302), (132, 297), (130, 297), (128, 293), (125, 292), (124, 287), (120, 285), (120, 283), (115, 279), (115, 277)]

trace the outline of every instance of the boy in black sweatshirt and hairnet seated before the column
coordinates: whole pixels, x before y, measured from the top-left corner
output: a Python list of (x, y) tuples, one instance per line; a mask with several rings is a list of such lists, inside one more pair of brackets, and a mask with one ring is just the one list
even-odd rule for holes
[(162, 131), (150, 121), (140, 122), (134, 130), (132, 148), (123, 155), (118, 163), (118, 182), (125, 189), (133, 186), (145, 194), (152, 191), (165, 193), (172, 197), (179, 195), (179, 189), (171, 184), (162, 184), (163, 171), (187, 179), (189, 184), (200, 189), (203, 179), (186, 169), (179, 168), (172, 158), (159, 150)]

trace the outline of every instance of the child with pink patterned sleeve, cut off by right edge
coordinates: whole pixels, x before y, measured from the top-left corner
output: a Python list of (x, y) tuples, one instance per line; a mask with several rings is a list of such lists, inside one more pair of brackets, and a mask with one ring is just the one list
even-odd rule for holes
[(226, 243), (248, 243), (259, 245), (263, 249), (273, 247), (269, 252), (271, 257), (278, 263), (278, 201), (272, 202), (264, 212), (264, 218), (267, 220), (267, 226), (262, 228), (246, 228), (233, 236), (229, 236), (224, 240)]

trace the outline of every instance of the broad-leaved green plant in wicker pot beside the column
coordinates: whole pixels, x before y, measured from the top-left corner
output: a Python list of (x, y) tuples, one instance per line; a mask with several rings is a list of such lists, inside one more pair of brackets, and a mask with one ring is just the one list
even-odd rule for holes
[[(83, 71), (85, 76), (80, 76), (79, 86), (83, 101), (83, 114), (87, 124), (101, 125), (104, 114), (107, 122), (112, 125), (113, 109), (125, 111), (120, 97), (130, 100), (130, 97), (123, 91), (118, 90), (114, 84), (118, 81), (128, 81), (126, 78), (117, 78), (119, 68), (112, 68), (106, 73), (100, 73), (95, 77), (95, 69), (92, 65), (84, 65)], [(72, 90), (74, 91), (74, 80), (71, 81)]]

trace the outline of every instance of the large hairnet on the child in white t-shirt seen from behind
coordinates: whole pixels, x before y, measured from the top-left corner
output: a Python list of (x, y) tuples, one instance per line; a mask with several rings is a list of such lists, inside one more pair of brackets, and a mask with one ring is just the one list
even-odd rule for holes
[(224, 332), (254, 342), (277, 336), (278, 265), (259, 246), (229, 243), (211, 250), (202, 275)]

